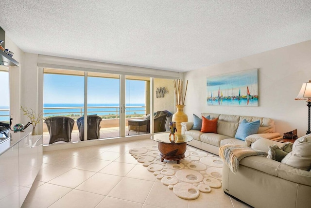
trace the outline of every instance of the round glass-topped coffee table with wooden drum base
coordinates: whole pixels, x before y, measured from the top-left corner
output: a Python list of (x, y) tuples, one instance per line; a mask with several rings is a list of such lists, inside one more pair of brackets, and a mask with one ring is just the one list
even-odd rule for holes
[(193, 138), (190, 135), (176, 133), (175, 141), (171, 142), (169, 136), (170, 132), (156, 133), (151, 136), (151, 139), (158, 142), (162, 162), (166, 159), (177, 161), (177, 164), (179, 164), (179, 160), (185, 157), (187, 142), (190, 142)]

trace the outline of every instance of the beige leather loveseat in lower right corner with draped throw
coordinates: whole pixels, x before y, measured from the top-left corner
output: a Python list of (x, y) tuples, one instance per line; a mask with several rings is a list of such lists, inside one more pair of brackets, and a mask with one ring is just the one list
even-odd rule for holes
[[(273, 145), (284, 143), (261, 138), (252, 148), (273, 150)], [(310, 208), (311, 207), (311, 134), (298, 138), (293, 151), (279, 161), (263, 156), (248, 156), (239, 162), (233, 173), (223, 166), (225, 193), (255, 208)], [(270, 157), (271, 158), (271, 157)]]

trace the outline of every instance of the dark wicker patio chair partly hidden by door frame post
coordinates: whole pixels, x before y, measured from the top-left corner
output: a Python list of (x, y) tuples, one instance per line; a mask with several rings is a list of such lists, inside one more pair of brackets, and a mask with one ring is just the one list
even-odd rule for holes
[[(102, 118), (98, 115), (87, 115), (87, 140), (99, 139)], [(77, 119), (79, 137), (84, 141), (84, 117)]]

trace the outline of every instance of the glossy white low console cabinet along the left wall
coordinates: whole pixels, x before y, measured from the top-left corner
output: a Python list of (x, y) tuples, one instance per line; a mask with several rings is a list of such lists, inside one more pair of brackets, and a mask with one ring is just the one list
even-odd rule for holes
[(0, 152), (0, 208), (20, 208), (42, 165), (43, 137), (10, 132), (10, 146)]

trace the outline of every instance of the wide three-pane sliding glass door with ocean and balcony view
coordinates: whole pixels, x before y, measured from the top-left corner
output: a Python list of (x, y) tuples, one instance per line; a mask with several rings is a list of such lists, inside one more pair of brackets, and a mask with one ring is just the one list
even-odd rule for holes
[[(128, 120), (150, 113), (149, 89), (150, 77), (45, 68), (44, 121), (73, 119), (71, 142), (150, 132), (149, 120), (139, 131), (128, 128)], [(52, 132), (46, 122), (43, 132), (47, 145)]]

